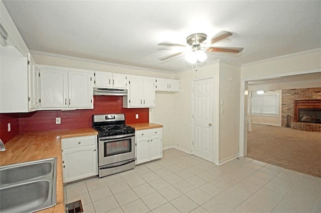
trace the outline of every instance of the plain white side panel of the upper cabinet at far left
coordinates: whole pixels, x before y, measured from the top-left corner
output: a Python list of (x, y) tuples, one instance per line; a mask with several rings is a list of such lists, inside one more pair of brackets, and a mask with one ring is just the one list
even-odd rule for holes
[(28, 58), (0, 45), (0, 112), (28, 112)]

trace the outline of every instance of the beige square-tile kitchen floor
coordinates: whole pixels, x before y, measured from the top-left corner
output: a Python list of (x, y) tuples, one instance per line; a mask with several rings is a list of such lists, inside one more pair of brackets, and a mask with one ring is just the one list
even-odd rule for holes
[(163, 158), (66, 185), (84, 212), (321, 212), (321, 178), (239, 157), (223, 165), (166, 149)]

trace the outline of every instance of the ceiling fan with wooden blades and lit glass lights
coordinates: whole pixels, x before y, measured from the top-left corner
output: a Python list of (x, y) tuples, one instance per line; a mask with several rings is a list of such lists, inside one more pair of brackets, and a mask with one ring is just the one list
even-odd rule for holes
[[(163, 45), (163, 46), (179, 46), (179, 47), (186, 47), (186, 51), (181, 51), (175, 54), (172, 54), (167, 57), (163, 57), (160, 60), (168, 60), (173, 57), (176, 57), (178, 55), (185, 54), (186, 55), (186, 60), (189, 61), (190, 63), (196, 63), (197, 61), (203, 62), (206, 60), (207, 55), (205, 51), (208, 52), (232, 52), (232, 53), (239, 53), (243, 51), (244, 48), (242, 47), (217, 47), (217, 46), (212, 46), (213, 43), (222, 40), (224, 38), (227, 38), (231, 36), (233, 33), (228, 32), (228, 31), (221, 31), (219, 32), (215, 37), (211, 39), (211, 43), (208, 45), (204, 43), (204, 41), (207, 38), (207, 35), (205, 33), (194, 33), (189, 35), (186, 38), (186, 42), (189, 44), (188, 45), (182, 45), (182, 44), (176, 44), (176, 43), (158, 43), (158, 45)], [(208, 45), (208, 46), (207, 46)]]

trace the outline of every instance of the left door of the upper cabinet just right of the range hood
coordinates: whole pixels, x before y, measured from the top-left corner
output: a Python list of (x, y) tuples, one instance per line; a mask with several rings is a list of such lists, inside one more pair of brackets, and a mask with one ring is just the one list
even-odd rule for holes
[(142, 106), (142, 78), (130, 77), (129, 80), (129, 107)]

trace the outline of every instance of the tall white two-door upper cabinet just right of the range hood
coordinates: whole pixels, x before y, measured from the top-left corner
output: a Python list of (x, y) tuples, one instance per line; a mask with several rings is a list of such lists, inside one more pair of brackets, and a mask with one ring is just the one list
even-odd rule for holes
[(155, 107), (155, 81), (152, 77), (130, 76), (128, 95), (123, 97), (125, 108)]

